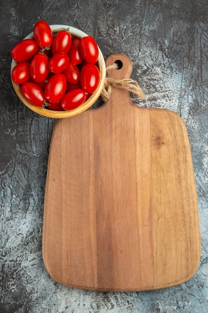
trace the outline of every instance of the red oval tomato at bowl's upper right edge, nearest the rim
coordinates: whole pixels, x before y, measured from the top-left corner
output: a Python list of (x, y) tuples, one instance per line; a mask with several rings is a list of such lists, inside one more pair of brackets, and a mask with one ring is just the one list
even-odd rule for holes
[(85, 61), (95, 64), (98, 59), (98, 46), (91, 36), (82, 37), (79, 45), (80, 53)]

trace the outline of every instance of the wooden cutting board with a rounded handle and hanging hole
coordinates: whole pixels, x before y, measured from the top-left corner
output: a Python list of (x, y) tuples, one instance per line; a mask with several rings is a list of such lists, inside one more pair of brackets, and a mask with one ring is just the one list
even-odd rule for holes
[[(114, 78), (132, 62), (113, 54)], [(48, 160), (43, 259), (68, 286), (150, 290), (188, 280), (200, 260), (196, 184), (176, 113), (136, 106), (112, 88), (99, 108), (58, 120)]]

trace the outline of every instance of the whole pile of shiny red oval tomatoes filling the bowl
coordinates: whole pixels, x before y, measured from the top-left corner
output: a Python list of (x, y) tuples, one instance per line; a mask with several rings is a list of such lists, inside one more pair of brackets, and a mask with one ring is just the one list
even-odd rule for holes
[(11, 79), (21, 85), (23, 96), (32, 104), (70, 110), (96, 90), (98, 54), (93, 37), (72, 37), (69, 29), (53, 35), (49, 24), (39, 20), (33, 38), (21, 40), (11, 50), (17, 63)]

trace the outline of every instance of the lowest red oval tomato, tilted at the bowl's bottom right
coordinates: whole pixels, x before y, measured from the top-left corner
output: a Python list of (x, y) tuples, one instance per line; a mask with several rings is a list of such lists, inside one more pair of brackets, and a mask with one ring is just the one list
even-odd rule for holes
[(85, 99), (86, 94), (82, 89), (73, 89), (63, 96), (61, 106), (65, 110), (71, 110), (84, 103)]

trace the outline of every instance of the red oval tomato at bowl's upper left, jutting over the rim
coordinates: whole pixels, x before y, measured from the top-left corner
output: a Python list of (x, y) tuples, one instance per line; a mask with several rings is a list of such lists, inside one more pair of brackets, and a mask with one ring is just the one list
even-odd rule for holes
[(37, 49), (37, 44), (33, 39), (23, 39), (12, 48), (11, 57), (16, 62), (24, 62), (33, 57)]

